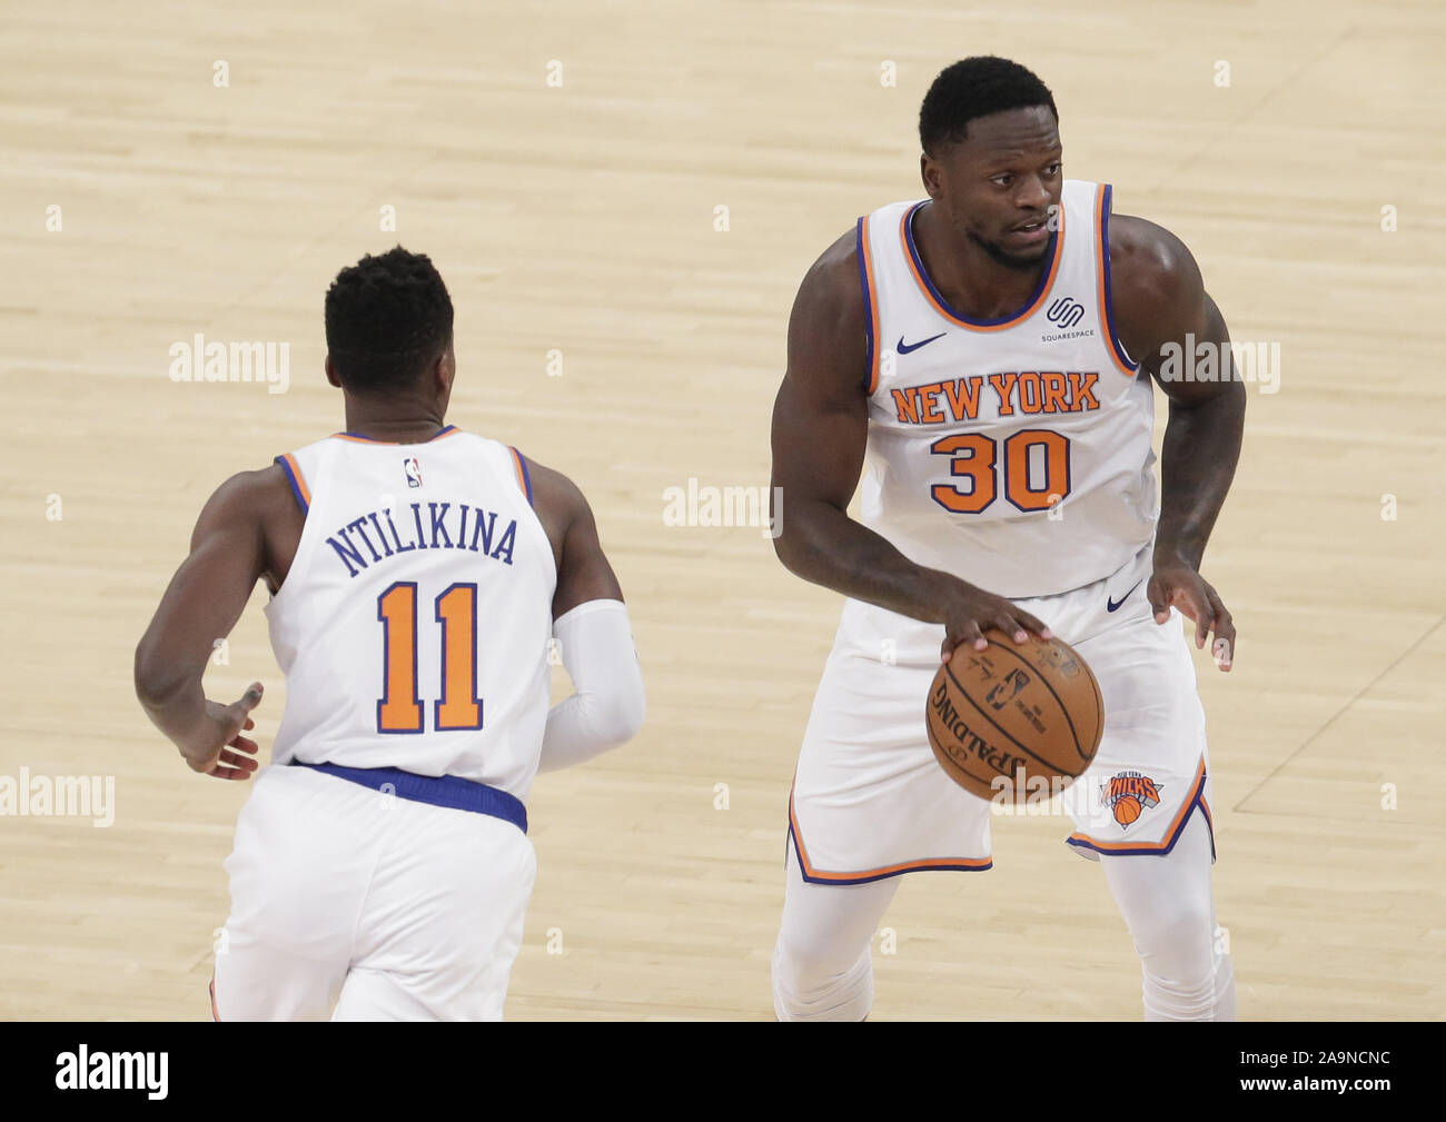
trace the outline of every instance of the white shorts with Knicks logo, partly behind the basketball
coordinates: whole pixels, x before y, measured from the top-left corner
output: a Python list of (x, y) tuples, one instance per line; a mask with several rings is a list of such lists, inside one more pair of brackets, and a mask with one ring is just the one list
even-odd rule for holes
[[(1168, 853), (1192, 813), (1210, 820), (1194, 664), (1183, 616), (1154, 620), (1151, 571), (1147, 545), (1083, 588), (1014, 601), (1089, 662), (1103, 695), (1099, 752), (1056, 804), (1074, 823), (1066, 840), (1087, 857)], [(934, 759), (924, 710), (943, 641), (943, 625), (844, 603), (790, 797), (805, 881), (992, 866), (991, 820), (1022, 811), (964, 791)]]

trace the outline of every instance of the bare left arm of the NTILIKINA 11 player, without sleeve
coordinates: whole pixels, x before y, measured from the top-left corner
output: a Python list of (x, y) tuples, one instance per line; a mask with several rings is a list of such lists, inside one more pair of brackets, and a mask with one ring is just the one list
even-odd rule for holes
[(146, 716), (194, 771), (220, 779), (256, 771), (256, 742), (241, 733), (254, 726), (247, 714), (262, 700), (262, 684), (223, 704), (207, 700), (201, 678), (215, 641), (236, 626), (263, 574), (265, 503), (286, 486), (278, 477), (279, 467), (243, 471), (217, 489), (191, 534), (191, 555), (136, 646), (136, 697)]

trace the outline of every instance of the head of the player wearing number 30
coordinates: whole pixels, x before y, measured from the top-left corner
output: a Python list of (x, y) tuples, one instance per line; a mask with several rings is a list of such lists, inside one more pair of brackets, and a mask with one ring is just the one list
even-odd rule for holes
[[(946, 67), (918, 111), (924, 188), (951, 227), (1001, 265), (1048, 252), (1058, 207), (1060, 114), (1032, 71), (983, 55)], [(1027, 230), (1035, 223), (1043, 227)]]

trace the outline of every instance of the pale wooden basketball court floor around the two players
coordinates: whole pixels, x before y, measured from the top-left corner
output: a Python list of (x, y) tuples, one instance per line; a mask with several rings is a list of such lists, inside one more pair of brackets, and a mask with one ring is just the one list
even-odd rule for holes
[[(1066, 174), (1180, 234), (1236, 341), (1280, 344), (1206, 555), (1236, 668), (1197, 652), (1241, 1015), (1446, 1014), (1446, 13), (328, 7), (72, 0), (0, 27), (0, 776), (114, 776), (110, 826), (0, 818), (0, 1018), (210, 1016), (249, 787), (187, 771), (132, 652), (211, 490), (343, 427), (322, 294), (396, 243), (457, 308), (448, 419), (590, 496), (648, 684), (636, 742), (536, 784), (508, 1015), (771, 1018), (788, 785), (840, 599), (758, 526), (668, 525), (664, 496), (766, 486), (797, 283), (921, 194), (920, 98), (970, 53), (1034, 68)], [(288, 343), (286, 392), (172, 380), (197, 334)], [(208, 693), (266, 682), (265, 756), (263, 600)], [(907, 878), (875, 1019), (1138, 1018), (1124, 921), (1067, 831), (1001, 818), (992, 873)]]

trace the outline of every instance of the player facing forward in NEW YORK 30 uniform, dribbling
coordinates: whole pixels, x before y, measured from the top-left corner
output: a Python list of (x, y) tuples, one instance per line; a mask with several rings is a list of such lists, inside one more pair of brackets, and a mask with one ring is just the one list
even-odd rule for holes
[[(936, 762), (924, 700), (940, 658), (999, 628), (1057, 635), (1099, 680), (1067, 840), (1103, 863), (1147, 1019), (1231, 1019), (1205, 717), (1173, 625), (1229, 669), (1231, 613), (1200, 575), (1245, 409), (1225, 321), (1178, 239), (1063, 178), (1054, 98), (1024, 67), (944, 69), (920, 139), (928, 198), (860, 218), (810, 269), (774, 406), (778, 555), (849, 597), (794, 779), (777, 1014), (863, 1018), (898, 876), (989, 868), (991, 807)], [(1184, 380), (1173, 346), (1197, 344), (1219, 364)], [(1151, 377), (1170, 402), (1158, 505)]]

